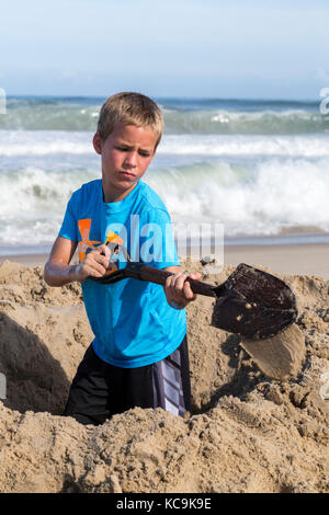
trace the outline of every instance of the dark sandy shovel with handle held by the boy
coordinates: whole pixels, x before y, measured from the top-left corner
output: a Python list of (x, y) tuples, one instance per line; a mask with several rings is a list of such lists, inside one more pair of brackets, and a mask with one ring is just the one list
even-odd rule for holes
[[(132, 262), (126, 249), (109, 243), (113, 253), (123, 251), (125, 268), (103, 277), (90, 277), (101, 284), (112, 284), (131, 277), (164, 286), (170, 272)], [(269, 339), (284, 331), (297, 318), (296, 299), (291, 288), (277, 277), (240, 263), (225, 283), (215, 286), (186, 278), (192, 291), (216, 299), (212, 325), (247, 339)]]

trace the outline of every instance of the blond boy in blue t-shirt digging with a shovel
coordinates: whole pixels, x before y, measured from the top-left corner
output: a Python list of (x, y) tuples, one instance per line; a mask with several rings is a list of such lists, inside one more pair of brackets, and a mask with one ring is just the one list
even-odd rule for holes
[[(161, 112), (147, 96), (118, 93), (107, 99), (93, 137), (102, 180), (72, 194), (45, 265), (50, 286), (81, 283), (95, 336), (65, 408), (66, 415), (82, 424), (102, 424), (136, 405), (161, 407), (181, 416), (191, 409), (184, 308), (195, 295), (180, 267), (166, 206), (140, 181), (162, 130)], [(109, 241), (124, 243), (134, 261), (171, 272), (166, 287), (132, 278), (110, 285), (92, 281), (114, 266)], [(79, 265), (70, 265), (77, 245)]]

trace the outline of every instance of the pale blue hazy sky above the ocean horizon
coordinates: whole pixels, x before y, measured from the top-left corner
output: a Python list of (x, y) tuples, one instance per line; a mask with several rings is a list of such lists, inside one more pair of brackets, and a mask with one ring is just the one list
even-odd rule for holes
[(328, 0), (1, 2), (7, 95), (318, 99)]

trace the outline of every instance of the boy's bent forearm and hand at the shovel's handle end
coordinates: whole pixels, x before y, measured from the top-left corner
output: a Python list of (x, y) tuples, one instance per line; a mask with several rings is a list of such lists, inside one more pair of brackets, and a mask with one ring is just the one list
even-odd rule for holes
[(102, 277), (105, 274), (111, 256), (109, 247), (100, 245), (89, 252), (79, 265), (70, 265), (77, 244), (76, 241), (57, 237), (44, 270), (44, 279), (49, 286), (64, 286), (75, 281), (83, 283), (90, 275)]

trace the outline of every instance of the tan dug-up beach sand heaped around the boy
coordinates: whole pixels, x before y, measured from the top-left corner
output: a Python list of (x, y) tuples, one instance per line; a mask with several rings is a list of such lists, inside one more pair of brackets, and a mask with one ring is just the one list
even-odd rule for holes
[(328, 492), (329, 282), (282, 278), (306, 343), (296, 377), (264, 376), (198, 297), (188, 308), (191, 415), (135, 409), (94, 427), (60, 416), (92, 337), (80, 287), (49, 288), (41, 267), (4, 262), (0, 492)]

